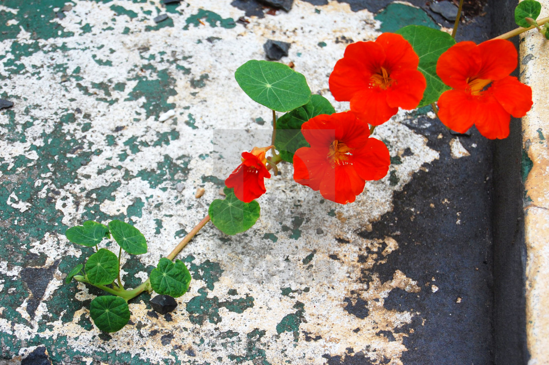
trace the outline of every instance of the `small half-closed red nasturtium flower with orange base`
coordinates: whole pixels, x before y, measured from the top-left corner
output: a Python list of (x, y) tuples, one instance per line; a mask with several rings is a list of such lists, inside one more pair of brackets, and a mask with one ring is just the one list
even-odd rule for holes
[(254, 147), (251, 152), (243, 152), (242, 164), (225, 180), (227, 188), (234, 188), (234, 195), (244, 203), (250, 203), (267, 191), (263, 179), (270, 178), (271, 173), (265, 167), (265, 153), (271, 147)]

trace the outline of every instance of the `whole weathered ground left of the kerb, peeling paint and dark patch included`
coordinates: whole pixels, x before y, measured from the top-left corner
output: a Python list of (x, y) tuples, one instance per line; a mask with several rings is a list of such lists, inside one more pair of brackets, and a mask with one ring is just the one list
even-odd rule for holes
[[(143, 294), (124, 329), (102, 333), (88, 311), (100, 291), (64, 284), (92, 252), (66, 228), (138, 227), (149, 252), (122, 257), (136, 287), (221, 198), (239, 151), (269, 144), (270, 110), (233, 77), (265, 59), (268, 39), (291, 43), (281, 62), (343, 111), (328, 75), (346, 44), (410, 21), (451, 27), (413, 3), (1, 2), (0, 98), (13, 106), (0, 110), (0, 362), (45, 348), (54, 364), (492, 363), (498, 142), (453, 135), (428, 108), (376, 128), (390, 171), (354, 204), (322, 199), (280, 165), (250, 231), (209, 224), (178, 256), (193, 281), (172, 313)], [(458, 39), (491, 37), (484, 10)]]

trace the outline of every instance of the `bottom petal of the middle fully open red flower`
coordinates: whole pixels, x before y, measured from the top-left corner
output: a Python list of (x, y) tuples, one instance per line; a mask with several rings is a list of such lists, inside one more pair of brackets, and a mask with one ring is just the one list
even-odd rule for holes
[(387, 91), (379, 87), (358, 92), (351, 98), (351, 111), (371, 125), (383, 124), (399, 111), (399, 108), (389, 106), (387, 95)]

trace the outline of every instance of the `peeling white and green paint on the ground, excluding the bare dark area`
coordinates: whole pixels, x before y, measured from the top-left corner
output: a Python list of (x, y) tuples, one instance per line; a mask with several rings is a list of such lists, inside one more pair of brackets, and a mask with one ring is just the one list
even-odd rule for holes
[[(327, 75), (343, 55), (340, 40), (379, 34), (372, 13), (295, 1), (288, 14), (251, 17), (244, 27), (233, 21), (243, 10), (230, 3), (1, 5), (9, 52), (0, 56), (0, 96), (14, 102), (0, 112), (5, 360), (38, 344), (67, 364), (324, 364), (352, 349), (395, 365), (412, 350), (404, 338), (413, 329), (403, 328), (421, 313), (389, 310), (384, 299), (421, 289), (398, 269), (388, 280), (373, 270), (398, 252), (398, 240), (354, 234), (390, 211), (395, 190), (439, 158), (401, 123), (402, 111), (376, 128), (395, 163), (387, 177), (366, 183), (356, 203), (322, 199), (295, 184), (283, 164), (281, 176), (266, 182), (263, 214), (250, 231), (227, 237), (211, 224), (203, 229), (181, 254), (193, 281), (174, 312), (158, 315), (143, 294), (130, 302), (130, 324), (100, 333), (87, 309), (100, 291), (63, 283), (93, 252), (68, 242), (66, 228), (126, 217), (148, 239), (148, 254), (121, 262), (125, 284), (139, 285), (219, 198), (242, 149), (268, 144), (271, 111), (233, 78), (248, 59), (264, 58), (266, 38), (292, 42), (282, 61), (293, 61), (313, 93), (348, 109), (329, 93)], [(164, 12), (170, 20), (155, 25)], [(170, 110), (175, 115), (159, 121)], [(197, 188), (205, 189), (200, 199)]]

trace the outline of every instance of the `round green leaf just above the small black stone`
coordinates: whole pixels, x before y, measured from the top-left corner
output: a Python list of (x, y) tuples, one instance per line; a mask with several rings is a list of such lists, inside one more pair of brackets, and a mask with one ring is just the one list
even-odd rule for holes
[(170, 260), (163, 257), (158, 266), (150, 272), (150, 285), (158, 294), (182, 296), (187, 293), (191, 283), (191, 273), (181, 260)]

